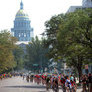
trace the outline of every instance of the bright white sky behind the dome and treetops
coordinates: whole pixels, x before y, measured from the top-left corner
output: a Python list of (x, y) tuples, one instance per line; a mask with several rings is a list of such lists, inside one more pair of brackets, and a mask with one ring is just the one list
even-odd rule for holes
[[(81, 6), (82, 0), (22, 0), (28, 13), (34, 36), (41, 37), (45, 31), (44, 23), (54, 15), (66, 13), (70, 6)], [(0, 0), (0, 31), (11, 30), (14, 19), (20, 9), (21, 0)]]

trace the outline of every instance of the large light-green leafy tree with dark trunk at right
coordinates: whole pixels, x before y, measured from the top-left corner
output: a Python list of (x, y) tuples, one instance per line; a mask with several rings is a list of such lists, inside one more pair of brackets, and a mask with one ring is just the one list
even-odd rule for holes
[(86, 10), (78, 10), (65, 16), (66, 20), (60, 27), (58, 40), (65, 48), (63, 54), (67, 58), (67, 64), (78, 70), (80, 79), (83, 65), (90, 63), (89, 59), (91, 59), (91, 57), (87, 58), (89, 51), (92, 51), (90, 16)]

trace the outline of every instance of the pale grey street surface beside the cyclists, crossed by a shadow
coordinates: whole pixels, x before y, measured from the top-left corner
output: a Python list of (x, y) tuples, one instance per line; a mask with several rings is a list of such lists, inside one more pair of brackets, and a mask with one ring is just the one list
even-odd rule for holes
[[(46, 92), (46, 88), (42, 84), (28, 83), (22, 77), (12, 77), (0, 80), (0, 92)], [(49, 92), (52, 90), (50, 89)], [(60, 89), (59, 92), (62, 90)], [(77, 92), (81, 92), (81, 89)]]

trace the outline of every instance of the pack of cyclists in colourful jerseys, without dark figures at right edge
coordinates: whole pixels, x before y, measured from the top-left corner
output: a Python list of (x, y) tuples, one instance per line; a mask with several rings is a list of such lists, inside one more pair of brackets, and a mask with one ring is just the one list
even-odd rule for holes
[[(23, 79), (25, 76), (23, 76)], [(27, 75), (27, 82), (35, 82), (37, 84), (46, 85), (47, 91), (52, 89), (53, 92), (59, 92), (62, 88), (63, 92), (76, 92), (77, 84), (74, 76), (56, 75), (56, 74), (36, 74)]]

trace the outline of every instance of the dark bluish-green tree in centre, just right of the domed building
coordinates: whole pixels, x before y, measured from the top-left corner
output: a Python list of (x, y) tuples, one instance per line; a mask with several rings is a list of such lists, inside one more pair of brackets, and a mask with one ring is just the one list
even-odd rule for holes
[[(44, 40), (44, 39), (43, 39)], [(43, 70), (48, 67), (48, 58), (46, 58), (46, 53), (48, 49), (43, 47), (43, 40), (39, 40), (38, 37), (32, 39), (32, 42), (27, 46), (27, 55), (25, 66), (27, 69)]]

